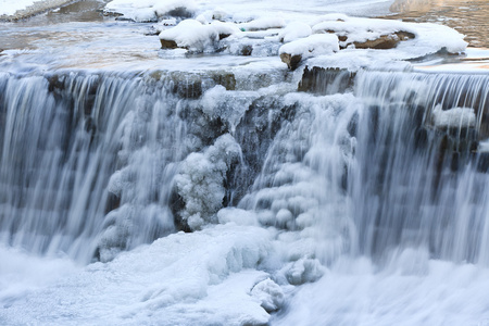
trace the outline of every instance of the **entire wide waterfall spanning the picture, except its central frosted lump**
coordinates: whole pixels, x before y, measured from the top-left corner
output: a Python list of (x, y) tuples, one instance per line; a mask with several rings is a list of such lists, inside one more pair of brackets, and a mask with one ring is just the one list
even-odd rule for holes
[(168, 76), (2, 74), (1, 241), (89, 262), (173, 233), (181, 162), (230, 133), (241, 158), (217, 208), (321, 226), (324, 263), (414, 246), (487, 264), (487, 76), (360, 72), (333, 95)]

